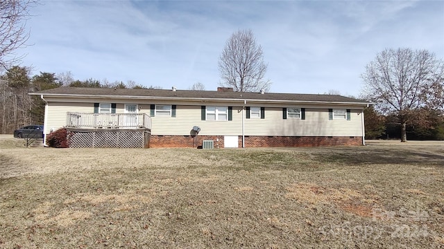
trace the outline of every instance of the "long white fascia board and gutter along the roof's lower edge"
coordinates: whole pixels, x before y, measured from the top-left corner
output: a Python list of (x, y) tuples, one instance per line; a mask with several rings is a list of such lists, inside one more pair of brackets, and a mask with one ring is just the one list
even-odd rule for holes
[(334, 102), (334, 101), (303, 101), (303, 100), (255, 100), (255, 99), (230, 99), (230, 98), (180, 98), (180, 97), (155, 97), (155, 96), (134, 96), (134, 95), (84, 95), (84, 94), (58, 94), (58, 93), (28, 93), (29, 95), (46, 95), (55, 98), (96, 98), (96, 99), (123, 99), (123, 100), (194, 100), (205, 102), (241, 102), (253, 103), (298, 103), (298, 104), (348, 104), (368, 106), (370, 102)]

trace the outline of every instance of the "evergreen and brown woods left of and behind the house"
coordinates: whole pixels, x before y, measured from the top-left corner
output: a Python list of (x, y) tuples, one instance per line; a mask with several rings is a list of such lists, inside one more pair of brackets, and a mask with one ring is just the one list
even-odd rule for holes
[(43, 124), (44, 101), (40, 96), (29, 95), (37, 91), (71, 87), (97, 87), (119, 89), (162, 89), (162, 86), (143, 86), (133, 81), (108, 82), (108, 80), (74, 80), (71, 73), (40, 72), (31, 76), (30, 68), (12, 66), (0, 75), (0, 133), (12, 133), (28, 124)]

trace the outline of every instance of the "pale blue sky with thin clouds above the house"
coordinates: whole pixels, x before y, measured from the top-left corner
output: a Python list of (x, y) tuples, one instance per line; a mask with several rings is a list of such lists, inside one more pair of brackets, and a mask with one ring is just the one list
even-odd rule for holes
[(42, 1), (22, 66), (76, 80), (216, 90), (226, 40), (253, 30), (272, 92), (359, 95), (384, 48), (444, 58), (444, 1)]

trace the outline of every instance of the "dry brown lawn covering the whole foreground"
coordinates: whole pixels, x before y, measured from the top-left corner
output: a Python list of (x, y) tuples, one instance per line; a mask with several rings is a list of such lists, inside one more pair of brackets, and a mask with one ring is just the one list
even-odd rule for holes
[(25, 149), (3, 138), (0, 248), (444, 247), (444, 142), (368, 144)]

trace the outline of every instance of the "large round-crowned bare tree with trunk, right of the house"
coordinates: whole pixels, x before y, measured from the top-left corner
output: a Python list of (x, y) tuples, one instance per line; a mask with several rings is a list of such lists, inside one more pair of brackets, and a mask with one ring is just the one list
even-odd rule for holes
[(427, 50), (386, 49), (366, 66), (361, 77), (364, 98), (375, 102), (383, 114), (398, 119), (402, 142), (407, 141), (407, 123), (421, 119), (418, 111), (432, 104), (429, 98), (444, 98), (442, 91), (431, 91), (438, 86), (442, 89), (443, 61)]

